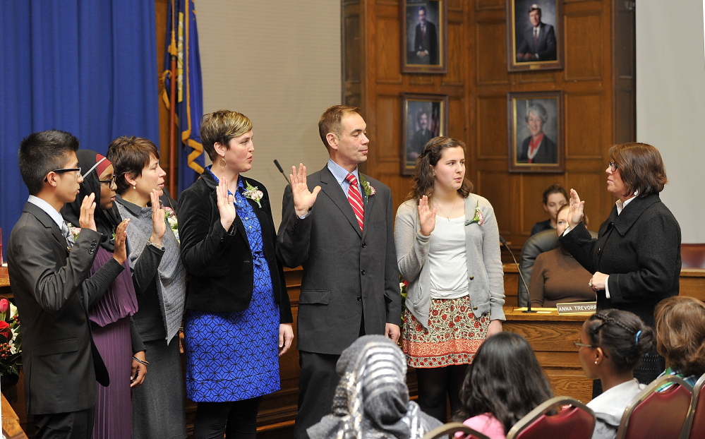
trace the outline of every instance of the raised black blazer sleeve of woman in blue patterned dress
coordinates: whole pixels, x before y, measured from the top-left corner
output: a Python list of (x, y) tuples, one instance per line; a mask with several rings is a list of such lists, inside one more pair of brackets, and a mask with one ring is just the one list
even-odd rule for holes
[[(186, 271), (198, 273), (199, 276), (222, 275), (219, 272), (222, 270), (221, 264), (216, 262), (233, 239), (223, 228), (219, 216), (211, 218), (212, 211), (210, 193), (204, 196), (203, 193), (186, 190), (179, 196), (181, 261)], [(235, 227), (232, 229), (236, 230)]]

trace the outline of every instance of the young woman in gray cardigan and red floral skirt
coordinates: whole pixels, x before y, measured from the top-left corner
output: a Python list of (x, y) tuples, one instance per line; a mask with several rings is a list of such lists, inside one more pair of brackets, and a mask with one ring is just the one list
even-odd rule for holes
[(497, 220), (471, 190), (465, 144), (433, 138), (394, 228), (399, 272), (409, 282), (402, 349), (416, 368), (418, 404), (442, 421), (446, 395), (456, 413), (467, 365), (505, 318)]

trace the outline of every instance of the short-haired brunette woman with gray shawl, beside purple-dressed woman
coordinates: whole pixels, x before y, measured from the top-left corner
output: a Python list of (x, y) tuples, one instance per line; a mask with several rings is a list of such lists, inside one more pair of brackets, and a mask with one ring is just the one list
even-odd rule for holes
[(147, 348), (150, 379), (133, 392), (135, 439), (186, 438), (179, 327), (186, 296), (186, 271), (179, 241), (159, 205), (166, 173), (159, 151), (145, 138), (119, 137), (110, 143), (115, 167), (116, 204), (130, 219), (128, 251), (139, 311), (135, 314)]

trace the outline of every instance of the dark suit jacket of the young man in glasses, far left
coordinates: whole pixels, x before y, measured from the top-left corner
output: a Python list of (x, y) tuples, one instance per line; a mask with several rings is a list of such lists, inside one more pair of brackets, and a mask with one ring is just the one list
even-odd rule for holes
[(56, 222), (32, 203), (25, 204), (12, 229), (8, 272), (22, 320), (29, 414), (79, 411), (95, 405), (96, 375), (85, 310), (123, 270), (111, 259), (86, 280), (100, 239), (97, 231), (83, 229), (68, 251)]

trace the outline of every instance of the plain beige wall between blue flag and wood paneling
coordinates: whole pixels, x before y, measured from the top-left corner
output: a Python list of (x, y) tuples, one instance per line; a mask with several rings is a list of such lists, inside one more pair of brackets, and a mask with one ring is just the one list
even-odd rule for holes
[[(253, 123), (254, 160), (281, 220), (284, 172), (322, 168), (318, 118), (341, 100), (340, 4), (331, 0), (198, 0), (203, 111), (232, 109)], [(288, 170), (287, 170), (288, 169)]]

